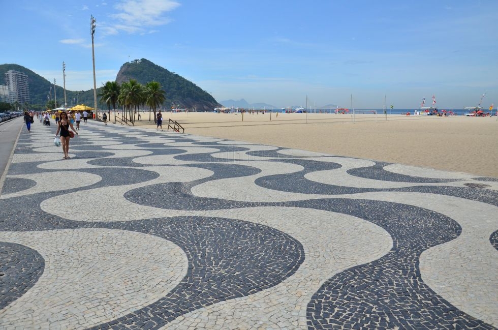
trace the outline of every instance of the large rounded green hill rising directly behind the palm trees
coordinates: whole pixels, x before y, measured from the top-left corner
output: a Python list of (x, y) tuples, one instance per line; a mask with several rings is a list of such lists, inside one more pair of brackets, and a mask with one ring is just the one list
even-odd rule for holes
[(193, 82), (170, 72), (145, 58), (135, 59), (121, 66), (116, 76), (116, 82), (135, 79), (142, 85), (149, 81), (157, 81), (166, 92), (164, 105), (171, 108), (192, 109), (197, 111), (212, 111), (221, 104)]

